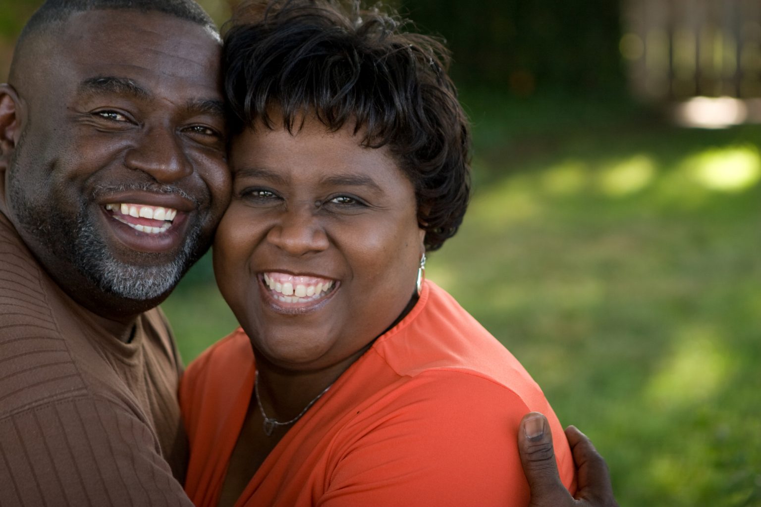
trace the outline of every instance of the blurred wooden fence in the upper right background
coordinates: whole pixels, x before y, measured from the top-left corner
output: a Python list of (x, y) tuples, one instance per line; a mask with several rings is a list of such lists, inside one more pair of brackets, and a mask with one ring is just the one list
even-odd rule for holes
[(761, 97), (759, 0), (623, 0), (622, 14), (639, 97)]

